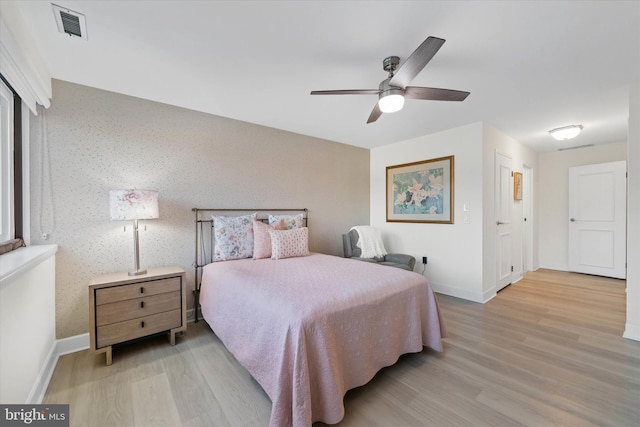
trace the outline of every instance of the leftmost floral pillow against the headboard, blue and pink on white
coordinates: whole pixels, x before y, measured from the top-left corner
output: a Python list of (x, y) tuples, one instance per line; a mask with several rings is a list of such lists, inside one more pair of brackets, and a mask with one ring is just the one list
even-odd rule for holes
[(242, 216), (212, 215), (215, 239), (214, 261), (251, 258), (253, 227), (256, 214)]

